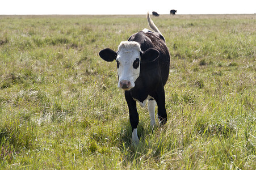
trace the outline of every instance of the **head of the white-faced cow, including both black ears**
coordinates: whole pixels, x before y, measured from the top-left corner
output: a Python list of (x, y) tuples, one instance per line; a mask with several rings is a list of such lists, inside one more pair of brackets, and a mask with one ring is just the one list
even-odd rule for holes
[(116, 60), (119, 78), (117, 87), (130, 90), (135, 87), (135, 81), (140, 76), (141, 62), (154, 61), (158, 58), (159, 52), (153, 48), (142, 52), (138, 42), (122, 41), (117, 52), (106, 48), (99, 52), (99, 56), (108, 62)]

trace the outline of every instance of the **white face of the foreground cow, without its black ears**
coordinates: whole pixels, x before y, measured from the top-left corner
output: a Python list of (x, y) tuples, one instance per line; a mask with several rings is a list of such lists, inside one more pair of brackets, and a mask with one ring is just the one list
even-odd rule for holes
[(116, 57), (118, 86), (123, 90), (135, 87), (135, 81), (140, 75), (140, 44), (134, 41), (123, 41), (118, 48)]

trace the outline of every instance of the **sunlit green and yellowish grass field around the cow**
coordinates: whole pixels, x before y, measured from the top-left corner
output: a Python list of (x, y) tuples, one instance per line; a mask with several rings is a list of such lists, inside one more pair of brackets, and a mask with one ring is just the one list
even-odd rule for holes
[(0, 16), (0, 169), (256, 169), (256, 15), (152, 16), (170, 50), (168, 121), (140, 143), (116, 63), (144, 15)]

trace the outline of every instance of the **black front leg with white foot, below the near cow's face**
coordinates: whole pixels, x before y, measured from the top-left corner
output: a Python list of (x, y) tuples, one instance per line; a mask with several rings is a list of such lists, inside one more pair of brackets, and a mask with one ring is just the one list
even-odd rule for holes
[(129, 118), (132, 126), (132, 143), (138, 145), (139, 138), (137, 135), (137, 126), (139, 124), (139, 113), (137, 112), (136, 101), (133, 100), (129, 91), (125, 91), (125, 100), (127, 101), (129, 108)]

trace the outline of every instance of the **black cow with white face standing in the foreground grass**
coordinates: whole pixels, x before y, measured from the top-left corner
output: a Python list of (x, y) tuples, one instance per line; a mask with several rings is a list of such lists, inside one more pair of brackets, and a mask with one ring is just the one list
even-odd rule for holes
[(99, 52), (105, 61), (116, 61), (119, 82), (117, 87), (124, 90), (129, 108), (129, 119), (132, 126), (132, 143), (137, 145), (137, 125), (139, 114), (136, 101), (144, 107), (148, 100), (150, 125), (156, 125), (155, 108), (158, 106), (158, 121), (165, 124), (165, 85), (170, 67), (170, 54), (165, 38), (147, 14), (149, 27), (129, 37), (128, 41), (120, 42), (117, 52), (106, 48)]

